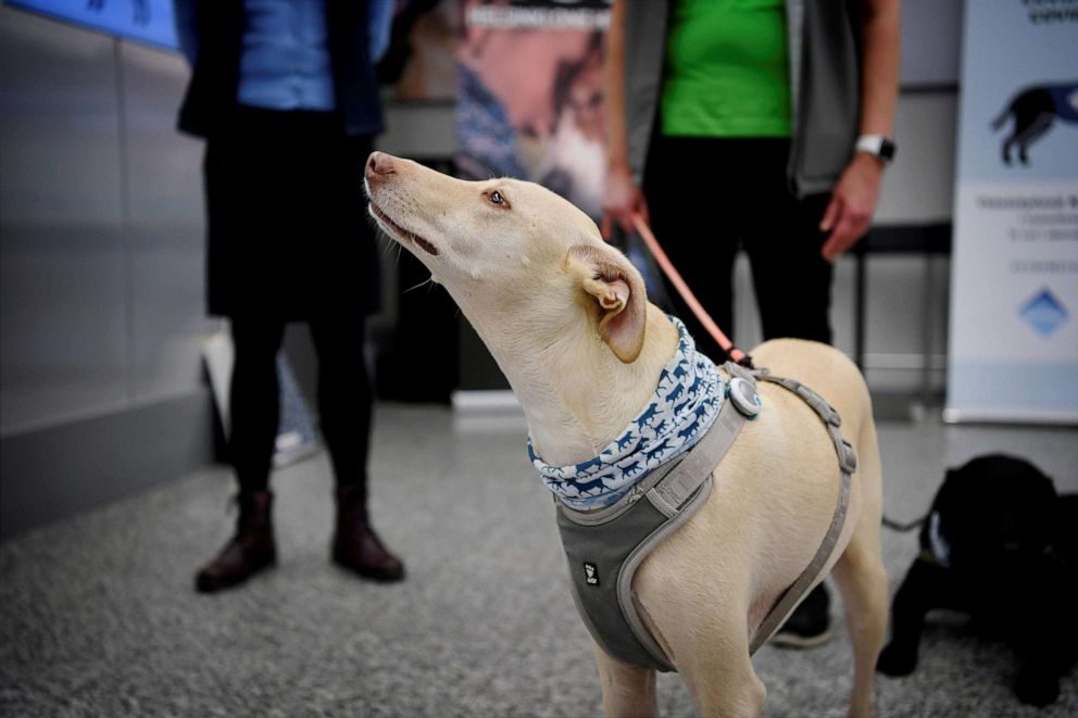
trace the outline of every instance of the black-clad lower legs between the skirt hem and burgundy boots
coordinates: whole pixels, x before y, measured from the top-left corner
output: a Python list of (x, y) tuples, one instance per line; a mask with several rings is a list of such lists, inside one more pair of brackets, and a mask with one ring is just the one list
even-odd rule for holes
[[(373, 391), (364, 360), (362, 312), (310, 320), (318, 356), (318, 412), (337, 486), (366, 488)], [(236, 363), (229, 396), (231, 459), (241, 491), (264, 491), (280, 416), (277, 351), (283, 319), (233, 319)]]

